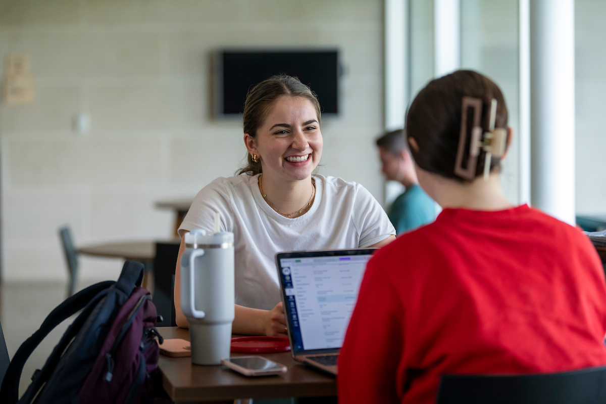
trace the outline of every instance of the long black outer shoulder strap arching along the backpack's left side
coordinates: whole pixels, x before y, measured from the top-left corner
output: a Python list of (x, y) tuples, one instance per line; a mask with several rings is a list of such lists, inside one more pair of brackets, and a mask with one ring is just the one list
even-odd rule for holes
[[(63, 320), (71, 317), (72, 315), (76, 314), (76, 312), (85, 308), (85, 306), (95, 299), (97, 295), (103, 291), (107, 291), (107, 289), (113, 284), (115, 284), (115, 281), (104, 281), (93, 284), (92, 286), (88, 286), (88, 288), (82, 289), (82, 291), (79, 291), (75, 295), (67, 298), (67, 300), (65, 300), (63, 303), (61, 303), (61, 305), (57, 306), (52, 312), (50, 312), (50, 314), (48, 314), (38, 331), (36, 331), (31, 337), (27, 338), (27, 340), (25, 340), (25, 342), (19, 346), (19, 349), (8, 365), (8, 369), (4, 375), (4, 380), (2, 380), (2, 388), (0, 388), (1, 403), (14, 404), (19, 399), (19, 379), (21, 379), (23, 366), (34, 349), (36, 349), (39, 343), (42, 342), (44, 337), (46, 337), (48, 333)], [(70, 331), (78, 332), (78, 330), (68, 329), (66, 334)], [(61, 352), (59, 352), (59, 354), (61, 354)]]

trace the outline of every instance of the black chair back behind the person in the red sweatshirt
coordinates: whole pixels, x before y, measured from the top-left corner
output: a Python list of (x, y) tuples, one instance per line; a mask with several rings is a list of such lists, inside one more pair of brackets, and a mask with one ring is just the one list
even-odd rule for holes
[(436, 404), (606, 403), (606, 366), (524, 375), (444, 375)]

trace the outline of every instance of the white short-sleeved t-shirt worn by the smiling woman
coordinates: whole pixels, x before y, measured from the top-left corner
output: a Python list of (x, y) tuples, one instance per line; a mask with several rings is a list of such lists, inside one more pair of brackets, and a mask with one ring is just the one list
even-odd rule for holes
[(283, 251), (368, 247), (396, 234), (387, 214), (364, 187), (315, 175), (316, 197), (297, 218), (279, 215), (263, 199), (258, 175), (217, 178), (196, 195), (181, 227), (221, 231), (235, 239), (236, 305), (273, 309), (281, 301), (275, 254)]

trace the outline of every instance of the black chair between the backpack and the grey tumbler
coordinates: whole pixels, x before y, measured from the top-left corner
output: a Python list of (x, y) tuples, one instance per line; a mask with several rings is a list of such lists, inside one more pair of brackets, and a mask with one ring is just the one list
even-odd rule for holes
[(179, 243), (156, 243), (156, 257), (153, 260), (153, 304), (156, 306), (162, 322), (158, 327), (175, 327), (175, 268), (179, 255)]

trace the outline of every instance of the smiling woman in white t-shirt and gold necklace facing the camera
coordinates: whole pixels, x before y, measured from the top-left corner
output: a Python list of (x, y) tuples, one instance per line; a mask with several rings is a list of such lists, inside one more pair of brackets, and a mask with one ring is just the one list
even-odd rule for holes
[[(309, 87), (273, 76), (248, 93), (244, 106), (247, 165), (217, 178), (191, 204), (179, 235), (193, 229), (235, 237), (236, 307), (233, 332), (285, 336), (276, 252), (381, 247), (395, 239), (384, 210), (360, 184), (314, 175), (322, 157), (320, 105)], [(182, 238), (184, 240), (184, 238)], [(175, 274), (178, 326), (181, 255)]]

